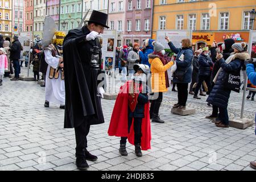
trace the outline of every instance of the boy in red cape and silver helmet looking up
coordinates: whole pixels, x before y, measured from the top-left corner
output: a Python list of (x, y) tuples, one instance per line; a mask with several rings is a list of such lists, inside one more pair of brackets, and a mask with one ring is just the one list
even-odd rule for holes
[(115, 101), (108, 134), (121, 137), (119, 152), (127, 156), (126, 140), (135, 146), (135, 154), (142, 156), (141, 150), (151, 148), (151, 129), (146, 64), (134, 65), (135, 73), (131, 80), (121, 86)]

